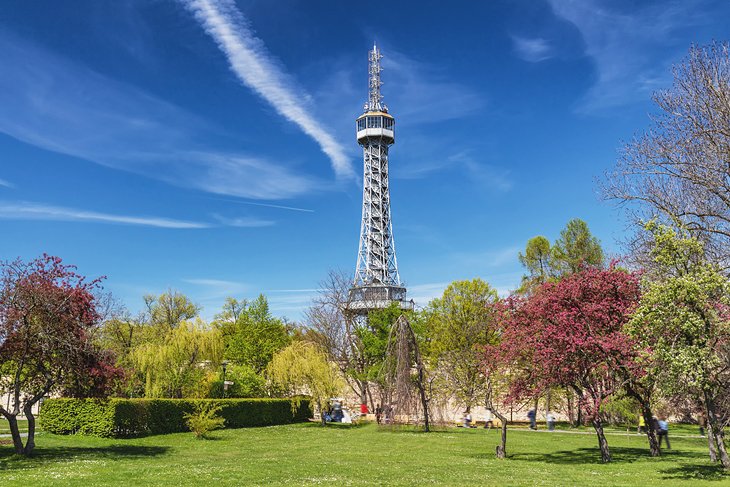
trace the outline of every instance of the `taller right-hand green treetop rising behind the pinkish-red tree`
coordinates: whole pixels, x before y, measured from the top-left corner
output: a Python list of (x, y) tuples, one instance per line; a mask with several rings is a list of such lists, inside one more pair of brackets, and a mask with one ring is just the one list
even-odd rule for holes
[(602, 266), (600, 241), (591, 234), (588, 224), (579, 218), (568, 222), (550, 251), (552, 272), (556, 276), (574, 274), (585, 265)]

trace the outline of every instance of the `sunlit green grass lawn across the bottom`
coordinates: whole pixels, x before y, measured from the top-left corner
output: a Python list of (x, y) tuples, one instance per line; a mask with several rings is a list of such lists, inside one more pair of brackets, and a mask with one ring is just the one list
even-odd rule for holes
[(210, 440), (41, 433), (29, 459), (0, 445), (0, 485), (730, 485), (704, 438), (672, 438), (672, 450), (651, 459), (644, 436), (612, 433), (614, 462), (603, 465), (595, 435), (510, 431), (509, 458), (497, 460), (498, 435), (311, 423), (217, 431)]

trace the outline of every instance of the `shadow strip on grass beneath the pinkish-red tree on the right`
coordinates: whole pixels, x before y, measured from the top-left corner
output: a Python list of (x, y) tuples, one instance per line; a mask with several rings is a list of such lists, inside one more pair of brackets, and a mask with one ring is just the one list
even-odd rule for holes
[[(647, 460), (651, 458), (647, 448), (612, 446), (610, 447), (610, 450), (612, 462), (615, 463), (633, 463), (637, 460)], [(601, 452), (598, 448), (578, 448), (576, 450), (563, 450), (550, 453), (516, 453), (513, 455), (508, 453), (507, 457), (517, 461), (543, 462), (563, 465), (602, 463)], [(661, 458), (674, 460), (682, 458), (687, 460), (704, 458), (704, 455), (699, 452), (664, 450), (662, 451)]]

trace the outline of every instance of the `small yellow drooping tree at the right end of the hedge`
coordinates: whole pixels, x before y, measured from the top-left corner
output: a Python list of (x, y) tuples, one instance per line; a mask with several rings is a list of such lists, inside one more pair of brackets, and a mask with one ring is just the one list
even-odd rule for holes
[(274, 355), (268, 366), (268, 375), (295, 400), (301, 394), (310, 396), (323, 426), (329, 399), (337, 397), (344, 388), (336, 366), (311, 342), (294, 342)]

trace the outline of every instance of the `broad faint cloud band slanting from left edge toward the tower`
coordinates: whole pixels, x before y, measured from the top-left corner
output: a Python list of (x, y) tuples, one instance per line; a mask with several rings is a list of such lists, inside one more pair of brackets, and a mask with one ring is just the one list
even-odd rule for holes
[(218, 129), (185, 110), (0, 32), (0, 132), (186, 188), (284, 199), (323, 183), (263, 157), (222, 152)]

